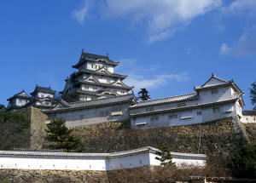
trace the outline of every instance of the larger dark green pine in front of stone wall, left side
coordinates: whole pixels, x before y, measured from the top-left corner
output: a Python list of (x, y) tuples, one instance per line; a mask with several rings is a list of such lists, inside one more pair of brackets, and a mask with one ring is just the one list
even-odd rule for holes
[(52, 119), (47, 124), (46, 139), (53, 142), (50, 145), (54, 149), (64, 149), (66, 151), (78, 150), (81, 141), (78, 137), (72, 134), (73, 129), (67, 129), (65, 125), (66, 121), (63, 119)]

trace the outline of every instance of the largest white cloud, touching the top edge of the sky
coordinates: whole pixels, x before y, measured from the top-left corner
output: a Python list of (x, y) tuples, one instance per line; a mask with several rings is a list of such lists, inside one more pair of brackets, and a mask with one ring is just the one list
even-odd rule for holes
[(106, 0), (110, 17), (129, 15), (132, 22), (146, 22), (148, 43), (172, 36), (190, 21), (221, 5), (221, 0)]

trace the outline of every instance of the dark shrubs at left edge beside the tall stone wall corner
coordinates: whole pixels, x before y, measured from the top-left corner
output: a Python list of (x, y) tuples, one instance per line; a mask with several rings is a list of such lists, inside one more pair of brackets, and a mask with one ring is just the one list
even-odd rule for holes
[(0, 106), (0, 150), (29, 146), (30, 122), (20, 112), (7, 112)]

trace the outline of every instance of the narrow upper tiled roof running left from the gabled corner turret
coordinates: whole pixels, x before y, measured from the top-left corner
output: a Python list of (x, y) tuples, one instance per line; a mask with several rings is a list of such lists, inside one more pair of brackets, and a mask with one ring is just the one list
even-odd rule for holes
[(162, 99), (140, 101), (137, 104), (130, 106), (130, 108), (133, 109), (133, 108), (139, 108), (143, 106), (154, 106), (154, 105), (183, 101), (183, 100), (196, 100), (197, 98), (198, 98), (197, 94), (182, 94), (182, 95), (171, 96), (171, 97), (166, 97)]

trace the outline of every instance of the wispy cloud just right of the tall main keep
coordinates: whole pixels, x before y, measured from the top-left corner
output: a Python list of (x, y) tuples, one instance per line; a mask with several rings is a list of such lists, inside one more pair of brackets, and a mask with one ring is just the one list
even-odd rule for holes
[(157, 71), (160, 66), (138, 66), (137, 60), (119, 60), (118, 72), (125, 73), (128, 77), (125, 83), (134, 86), (135, 92), (139, 89), (159, 89), (160, 87), (172, 82), (185, 82), (189, 80), (186, 72), (177, 74), (159, 74)]

